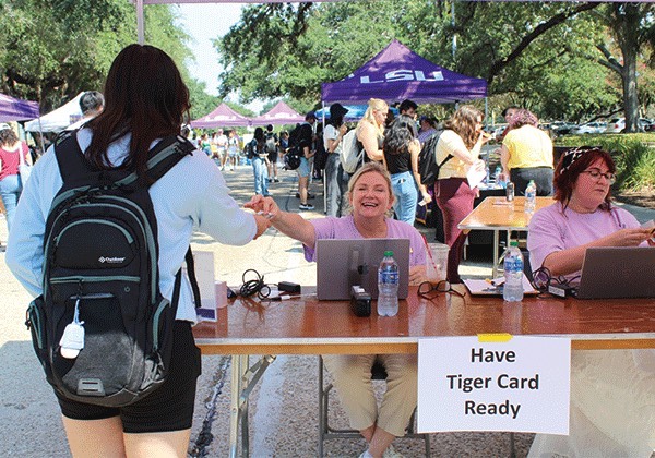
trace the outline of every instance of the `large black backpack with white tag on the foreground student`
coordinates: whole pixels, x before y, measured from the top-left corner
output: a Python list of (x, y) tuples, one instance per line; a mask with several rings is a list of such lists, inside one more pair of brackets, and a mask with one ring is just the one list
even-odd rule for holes
[[(26, 324), (48, 382), (66, 398), (122, 407), (166, 379), (181, 272), (169, 302), (159, 291), (148, 188), (194, 149), (181, 136), (166, 137), (138, 177), (94, 168), (74, 132), (56, 145), (63, 185), (46, 221), (43, 294)], [(190, 249), (187, 269), (200, 306)]]

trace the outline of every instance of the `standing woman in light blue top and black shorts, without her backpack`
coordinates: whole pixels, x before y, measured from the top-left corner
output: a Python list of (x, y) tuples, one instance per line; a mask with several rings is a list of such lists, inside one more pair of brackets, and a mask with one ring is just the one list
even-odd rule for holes
[[(157, 91), (152, 91), (156, 87)], [(189, 91), (174, 61), (152, 46), (130, 45), (115, 59), (105, 85), (106, 107), (76, 138), (88, 166), (96, 169), (145, 168), (158, 138), (180, 132), (189, 110)], [(53, 148), (34, 167), (10, 233), (7, 265), (34, 296), (43, 292), (44, 236), (52, 198), (62, 185)], [(202, 152), (182, 158), (148, 190), (157, 219), (159, 289), (171, 299), (194, 228), (222, 243), (241, 245), (260, 236), (265, 218), (246, 213), (228, 195), (217, 167)], [(74, 402), (57, 395), (73, 456), (187, 455), (200, 351), (191, 324), (195, 311), (186, 281), (174, 327), (169, 377), (151, 395), (123, 408)]]

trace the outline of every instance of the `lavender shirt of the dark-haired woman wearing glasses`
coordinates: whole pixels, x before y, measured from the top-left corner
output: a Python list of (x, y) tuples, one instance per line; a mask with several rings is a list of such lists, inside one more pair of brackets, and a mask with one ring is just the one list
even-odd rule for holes
[[(527, 249), (533, 270), (541, 267), (550, 253), (584, 245), (620, 229), (640, 227), (631, 213), (616, 206), (610, 212), (597, 209), (594, 213), (562, 208), (562, 204), (556, 202), (535, 213), (529, 221)], [(644, 245), (647, 243), (644, 242)]]

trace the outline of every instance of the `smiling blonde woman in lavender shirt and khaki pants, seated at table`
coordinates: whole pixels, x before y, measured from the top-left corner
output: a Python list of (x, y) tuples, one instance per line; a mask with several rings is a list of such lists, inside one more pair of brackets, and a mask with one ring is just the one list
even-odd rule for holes
[[(352, 213), (342, 218), (307, 220), (282, 212), (271, 197), (255, 195), (245, 206), (270, 215), (272, 226), (303, 244), (305, 258), (314, 261), (318, 239), (409, 239), (409, 282), (425, 279), (426, 249), (420, 233), (406, 222), (389, 218), (393, 205), (391, 180), (382, 165), (368, 162), (348, 183)], [(379, 359), (388, 373), (386, 393), (378, 403), (371, 383), (371, 366)], [(350, 426), (369, 444), (361, 456), (381, 457), (396, 436), (405, 434), (417, 401), (416, 354), (331, 354), (323, 360), (334, 376), (334, 385), (348, 414)], [(389, 455), (389, 454), (388, 454)]]

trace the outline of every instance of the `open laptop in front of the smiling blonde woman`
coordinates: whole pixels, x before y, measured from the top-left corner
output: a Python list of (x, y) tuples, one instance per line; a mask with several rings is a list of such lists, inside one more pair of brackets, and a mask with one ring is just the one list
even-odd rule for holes
[(317, 296), (319, 300), (349, 300), (350, 287), (361, 286), (378, 298), (378, 267), (384, 252), (393, 251), (401, 281), (398, 298), (409, 287), (409, 239), (317, 240)]

